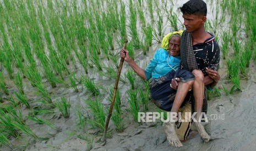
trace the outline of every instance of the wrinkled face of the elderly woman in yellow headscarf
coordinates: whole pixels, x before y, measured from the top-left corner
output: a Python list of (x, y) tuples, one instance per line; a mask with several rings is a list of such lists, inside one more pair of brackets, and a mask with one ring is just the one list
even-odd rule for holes
[(181, 49), (181, 38), (175, 36), (172, 37), (169, 42), (169, 47), (167, 50), (169, 50), (169, 55), (171, 56), (179, 56), (181, 55), (180, 49)]

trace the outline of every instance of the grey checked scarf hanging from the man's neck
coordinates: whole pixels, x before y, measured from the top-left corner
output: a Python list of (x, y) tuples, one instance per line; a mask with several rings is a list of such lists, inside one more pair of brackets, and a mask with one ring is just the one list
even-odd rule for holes
[(187, 30), (182, 33), (181, 37), (181, 61), (183, 68), (190, 72), (198, 69), (193, 52), (191, 33), (187, 32)]

